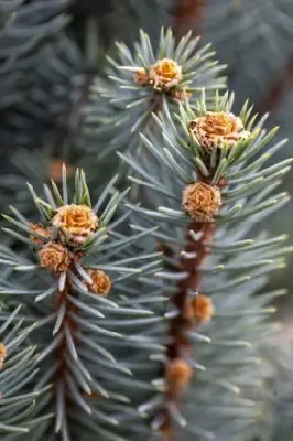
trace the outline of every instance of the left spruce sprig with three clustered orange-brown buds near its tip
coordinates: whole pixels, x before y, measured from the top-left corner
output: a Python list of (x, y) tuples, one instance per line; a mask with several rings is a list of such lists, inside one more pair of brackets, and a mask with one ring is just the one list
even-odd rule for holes
[[(29, 184), (42, 224), (29, 223), (15, 208), (14, 217), (4, 216), (19, 230), (6, 228), (6, 233), (33, 251), (31, 260), (28, 252), (23, 258), (1, 248), (1, 261), (17, 272), (11, 281), (2, 281), (0, 292), (8, 299), (22, 299), (25, 319), (37, 323), (32, 338), (39, 355), (33, 365), (40, 372), (26, 388), (39, 390), (53, 385), (44, 399), (35, 402), (34, 418), (41, 422), (34, 440), (54, 431), (70, 440), (75, 430), (88, 437), (98, 433), (127, 440), (127, 433), (141, 421), (131, 398), (141, 402), (140, 390), (148, 396), (154, 389), (149, 383), (154, 369), (150, 370), (148, 361), (153, 351), (163, 347), (159, 338), (141, 330), (160, 330), (164, 320), (160, 308), (158, 312), (152, 308), (155, 293), (150, 299), (146, 295), (160, 254), (138, 254), (139, 241), (148, 238), (150, 230), (127, 237), (119, 232), (124, 216), (111, 220), (128, 192), (115, 191), (116, 180), (91, 207), (84, 172), (77, 170), (70, 204), (63, 168), (62, 189), (52, 181), (47, 201)], [(145, 347), (137, 354), (140, 345)], [(128, 347), (128, 357), (120, 364), (123, 347)], [(129, 384), (128, 391), (124, 384)], [(50, 420), (43, 418), (47, 413)], [(128, 428), (129, 415), (133, 428)]]

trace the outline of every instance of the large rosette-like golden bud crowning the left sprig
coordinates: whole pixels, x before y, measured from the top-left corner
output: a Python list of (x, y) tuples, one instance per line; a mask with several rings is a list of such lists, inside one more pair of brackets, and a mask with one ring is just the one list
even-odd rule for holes
[(70, 240), (83, 245), (98, 227), (98, 216), (87, 205), (64, 205), (57, 208), (52, 224), (61, 228)]

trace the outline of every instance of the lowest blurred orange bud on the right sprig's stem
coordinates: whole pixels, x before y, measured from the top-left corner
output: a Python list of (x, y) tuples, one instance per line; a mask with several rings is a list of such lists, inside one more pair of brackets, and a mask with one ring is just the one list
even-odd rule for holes
[(166, 379), (170, 387), (185, 389), (193, 376), (193, 369), (183, 358), (173, 358), (166, 364)]

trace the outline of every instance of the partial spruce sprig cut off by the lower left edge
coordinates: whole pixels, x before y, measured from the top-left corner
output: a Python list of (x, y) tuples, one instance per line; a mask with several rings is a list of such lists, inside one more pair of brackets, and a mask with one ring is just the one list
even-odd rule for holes
[[(0, 435), (6, 440), (23, 437), (40, 423), (34, 418), (35, 400), (41, 399), (50, 386), (28, 392), (26, 386), (37, 375), (35, 346), (28, 336), (33, 325), (23, 326), (21, 305), (12, 312), (1, 311), (0, 326)], [(50, 420), (53, 415), (43, 415)]]

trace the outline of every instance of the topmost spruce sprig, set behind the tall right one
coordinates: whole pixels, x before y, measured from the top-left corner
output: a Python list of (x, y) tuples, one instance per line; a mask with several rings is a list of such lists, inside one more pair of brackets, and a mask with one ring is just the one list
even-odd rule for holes
[[(143, 31), (133, 44), (134, 51), (117, 43), (117, 60), (108, 57), (109, 82), (97, 79), (91, 88), (91, 103), (85, 111), (87, 131), (95, 131), (93, 121), (100, 114), (101, 96), (111, 105), (105, 118), (111, 133), (110, 146), (135, 149), (137, 137), (129, 140), (129, 135), (152, 126), (151, 114), (162, 110), (164, 97), (174, 106), (186, 96), (196, 100), (204, 87), (207, 92), (225, 87), (221, 72), (226, 66), (214, 60), (210, 45), (199, 49), (198, 42), (189, 32), (176, 43), (172, 30), (162, 29), (158, 49)], [(101, 128), (104, 135), (107, 127)]]

